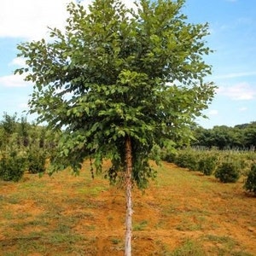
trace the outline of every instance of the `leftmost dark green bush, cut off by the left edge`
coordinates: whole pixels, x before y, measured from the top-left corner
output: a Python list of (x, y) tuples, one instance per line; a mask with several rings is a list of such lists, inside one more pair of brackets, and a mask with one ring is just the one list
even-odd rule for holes
[(0, 160), (0, 178), (4, 181), (18, 182), (26, 169), (26, 158), (16, 152), (4, 154)]

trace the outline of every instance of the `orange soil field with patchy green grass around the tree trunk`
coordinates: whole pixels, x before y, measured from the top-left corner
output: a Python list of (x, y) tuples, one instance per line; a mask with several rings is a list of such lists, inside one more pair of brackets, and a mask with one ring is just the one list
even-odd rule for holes
[[(108, 163), (106, 163), (108, 166)], [(171, 163), (144, 194), (134, 189), (132, 253), (256, 255), (256, 198), (237, 183)], [(123, 255), (125, 193), (107, 180), (64, 171), (0, 181), (0, 254)]]

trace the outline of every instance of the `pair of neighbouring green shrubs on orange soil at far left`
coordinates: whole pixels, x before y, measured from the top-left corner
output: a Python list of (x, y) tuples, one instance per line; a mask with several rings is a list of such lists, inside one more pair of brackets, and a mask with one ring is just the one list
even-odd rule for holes
[(45, 171), (46, 154), (44, 150), (5, 151), (0, 157), (0, 179), (18, 182), (27, 171), (40, 173)]

